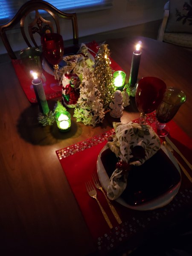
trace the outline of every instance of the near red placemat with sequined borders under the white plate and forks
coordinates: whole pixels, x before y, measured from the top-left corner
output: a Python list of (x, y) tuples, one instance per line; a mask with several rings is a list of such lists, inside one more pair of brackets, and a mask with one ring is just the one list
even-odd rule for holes
[[(148, 123), (150, 124), (154, 122), (154, 120), (155, 113), (152, 113), (148, 116)], [(138, 120), (135, 120), (134, 122), (137, 121)], [(169, 127), (169, 137), (190, 161), (192, 139), (190, 139), (175, 122), (169, 122)], [(116, 222), (109, 209), (104, 195), (97, 189), (97, 197), (113, 224), (113, 229), (110, 229), (102, 216), (98, 204), (88, 195), (85, 182), (91, 180), (92, 174), (97, 172), (96, 163), (99, 152), (106, 144), (108, 136), (113, 134), (113, 132), (114, 130), (112, 129), (104, 134), (56, 151), (93, 237), (93, 241), (98, 251), (103, 255), (106, 255), (106, 253), (110, 252), (112, 249), (117, 250), (119, 244), (125, 241), (128, 242), (135, 236), (142, 236), (145, 234), (146, 230), (153, 229), (157, 226), (161, 227), (160, 225), (162, 223), (173, 220), (178, 212), (192, 207), (192, 183), (189, 182), (183, 173), (180, 191), (165, 207), (151, 211), (137, 211), (123, 207), (114, 201), (113, 205), (122, 219), (122, 224), (120, 225)]]

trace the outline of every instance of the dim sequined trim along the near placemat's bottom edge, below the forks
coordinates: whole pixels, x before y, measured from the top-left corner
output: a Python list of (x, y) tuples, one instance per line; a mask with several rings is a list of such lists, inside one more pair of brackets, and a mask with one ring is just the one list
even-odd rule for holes
[(102, 255), (115, 248), (119, 242), (127, 241), (129, 237), (136, 233), (145, 233), (146, 228), (155, 227), (156, 221), (164, 221), (166, 216), (175, 211), (187, 207), (192, 198), (192, 190), (184, 189), (180, 191), (173, 200), (165, 207), (143, 212), (142, 217), (138, 212), (133, 211), (131, 218), (123, 221), (121, 225), (116, 225), (113, 230), (97, 238), (97, 249)]

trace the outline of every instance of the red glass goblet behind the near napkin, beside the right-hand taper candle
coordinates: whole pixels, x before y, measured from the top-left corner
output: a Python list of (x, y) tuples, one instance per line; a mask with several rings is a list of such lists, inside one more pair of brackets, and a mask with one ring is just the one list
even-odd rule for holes
[(140, 124), (146, 124), (146, 115), (156, 110), (166, 92), (163, 80), (147, 76), (140, 79), (137, 85), (135, 101), (140, 111)]

